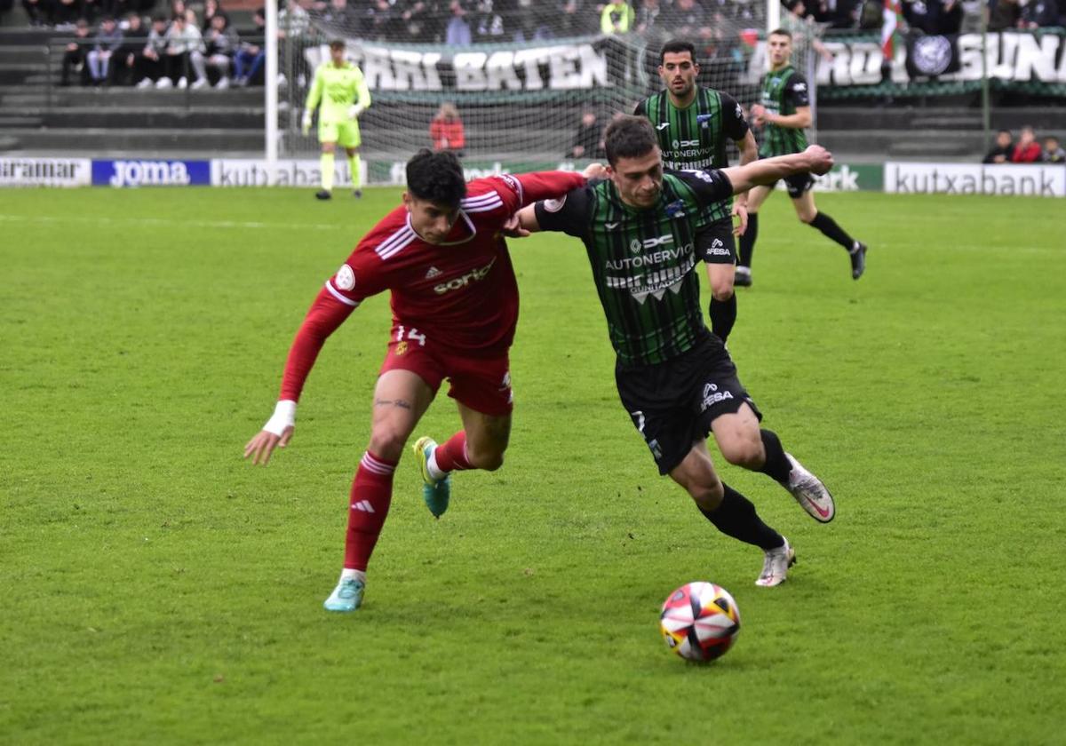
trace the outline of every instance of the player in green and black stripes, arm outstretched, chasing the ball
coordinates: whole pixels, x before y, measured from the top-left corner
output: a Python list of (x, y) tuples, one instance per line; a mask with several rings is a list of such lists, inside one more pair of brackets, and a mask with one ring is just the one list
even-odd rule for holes
[(732, 194), (795, 173), (824, 174), (833, 158), (813, 145), (724, 171), (664, 172), (656, 132), (637, 116), (612, 121), (604, 146), (605, 181), (523, 208), (519, 225), (582, 240), (617, 355), (618, 394), (659, 473), (683, 487), (718, 531), (762, 549), (756, 584), (778, 585), (795, 552), (718, 480), (707, 436), (714, 433), (730, 464), (777, 481), (815, 520), (827, 523), (836, 508), (825, 485), (760, 429), (725, 344), (704, 323), (697, 234), (708, 209)]

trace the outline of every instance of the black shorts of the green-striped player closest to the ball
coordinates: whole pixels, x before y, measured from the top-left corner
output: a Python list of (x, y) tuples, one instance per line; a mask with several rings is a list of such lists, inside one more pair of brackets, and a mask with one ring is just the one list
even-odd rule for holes
[(644, 436), (660, 474), (680, 464), (692, 444), (708, 436), (716, 418), (747, 404), (762, 419), (737, 378), (725, 345), (710, 331), (689, 352), (658, 366), (617, 364), (614, 377), (621, 404)]

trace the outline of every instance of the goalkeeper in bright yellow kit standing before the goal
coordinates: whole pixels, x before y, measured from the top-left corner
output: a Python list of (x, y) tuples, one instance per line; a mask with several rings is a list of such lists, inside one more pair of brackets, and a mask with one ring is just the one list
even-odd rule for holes
[(314, 82), (304, 104), (303, 131), (311, 131), (311, 112), (319, 110), (319, 142), (322, 143), (322, 189), (319, 199), (333, 195), (334, 150), (338, 144), (348, 153), (352, 190), (362, 196), (359, 176), (359, 115), (370, 106), (370, 90), (357, 65), (344, 59), (344, 42), (329, 43), (329, 62), (314, 70)]

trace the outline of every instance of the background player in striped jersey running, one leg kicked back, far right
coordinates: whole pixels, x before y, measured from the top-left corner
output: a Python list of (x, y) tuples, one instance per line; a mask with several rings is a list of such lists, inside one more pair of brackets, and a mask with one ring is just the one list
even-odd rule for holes
[[(804, 129), (810, 127), (810, 92), (807, 80), (792, 67), (792, 34), (782, 29), (771, 31), (766, 37), (770, 72), (762, 80), (762, 102), (752, 107), (753, 121), (762, 127), (762, 145), (759, 156), (770, 158), (790, 152), (801, 152), (807, 147)], [(814, 179), (810, 174), (796, 174), (785, 180), (792, 197), (796, 216), (818, 228), (845, 249), (852, 263), (852, 279), (866, 271), (867, 246), (849, 236), (837, 222), (819, 212), (810, 188)], [(752, 254), (759, 236), (759, 207), (770, 196), (774, 185), (757, 186), (747, 197), (748, 227), (740, 239), (740, 261), (737, 262), (737, 285), (752, 285)]]

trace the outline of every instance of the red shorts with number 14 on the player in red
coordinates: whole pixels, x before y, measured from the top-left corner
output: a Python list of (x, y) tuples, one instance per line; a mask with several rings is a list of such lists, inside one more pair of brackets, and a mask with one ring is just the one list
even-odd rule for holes
[(469, 357), (434, 345), (417, 329), (397, 326), (381, 373), (395, 370), (418, 374), (434, 394), (448, 378), (451, 384), (448, 395), (483, 415), (503, 417), (513, 409), (511, 362), (506, 353), (498, 357)]

